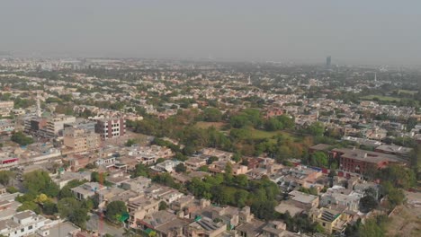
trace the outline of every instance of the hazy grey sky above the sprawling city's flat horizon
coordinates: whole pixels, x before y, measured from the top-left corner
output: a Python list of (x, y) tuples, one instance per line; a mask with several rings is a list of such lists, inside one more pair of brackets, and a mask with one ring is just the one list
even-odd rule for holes
[(0, 51), (421, 65), (421, 1), (3, 0)]

